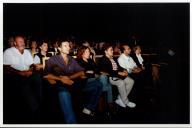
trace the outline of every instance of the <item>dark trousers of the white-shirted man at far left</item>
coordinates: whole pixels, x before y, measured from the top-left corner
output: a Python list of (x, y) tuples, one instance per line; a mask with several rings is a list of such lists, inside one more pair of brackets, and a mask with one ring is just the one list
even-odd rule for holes
[(40, 74), (33, 73), (29, 77), (4, 74), (3, 77), (5, 117), (11, 118), (13, 123), (21, 123), (16, 120), (25, 122), (29, 118), (33, 121), (42, 97)]

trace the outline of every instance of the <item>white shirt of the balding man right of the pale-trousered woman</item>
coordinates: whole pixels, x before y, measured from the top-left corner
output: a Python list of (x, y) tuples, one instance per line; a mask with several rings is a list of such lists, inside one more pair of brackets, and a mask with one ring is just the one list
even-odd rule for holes
[(122, 68), (127, 69), (128, 73), (131, 73), (134, 68), (137, 67), (136, 63), (130, 56), (121, 54), (118, 58), (118, 63)]

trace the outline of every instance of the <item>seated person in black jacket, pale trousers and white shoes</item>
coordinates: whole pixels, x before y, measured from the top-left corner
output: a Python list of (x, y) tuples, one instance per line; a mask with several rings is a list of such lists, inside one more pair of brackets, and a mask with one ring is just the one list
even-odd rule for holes
[(133, 87), (134, 80), (128, 76), (126, 69), (121, 68), (113, 59), (113, 48), (111, 45), (105, 45), (105, 55), (99, 60), (100, 70), (109, 74), (109, 82), (117, 86), (119, 96), (115, 101), (121, 107), (134, 108), (135, 103), (130, 102), (128, 95)]

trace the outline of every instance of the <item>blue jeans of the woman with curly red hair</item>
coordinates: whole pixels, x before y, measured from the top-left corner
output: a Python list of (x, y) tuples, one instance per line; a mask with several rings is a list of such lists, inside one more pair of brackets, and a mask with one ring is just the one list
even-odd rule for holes
[(98, 80), (102, 84), (102, 91), (107, 92), (107, 102), (113, 102), (113, 94), (112, 94), (112, 86), (108, 81), (108, 76), (101, 75), (98, 78), (89, 78), (88, 81), (95, 81)]

